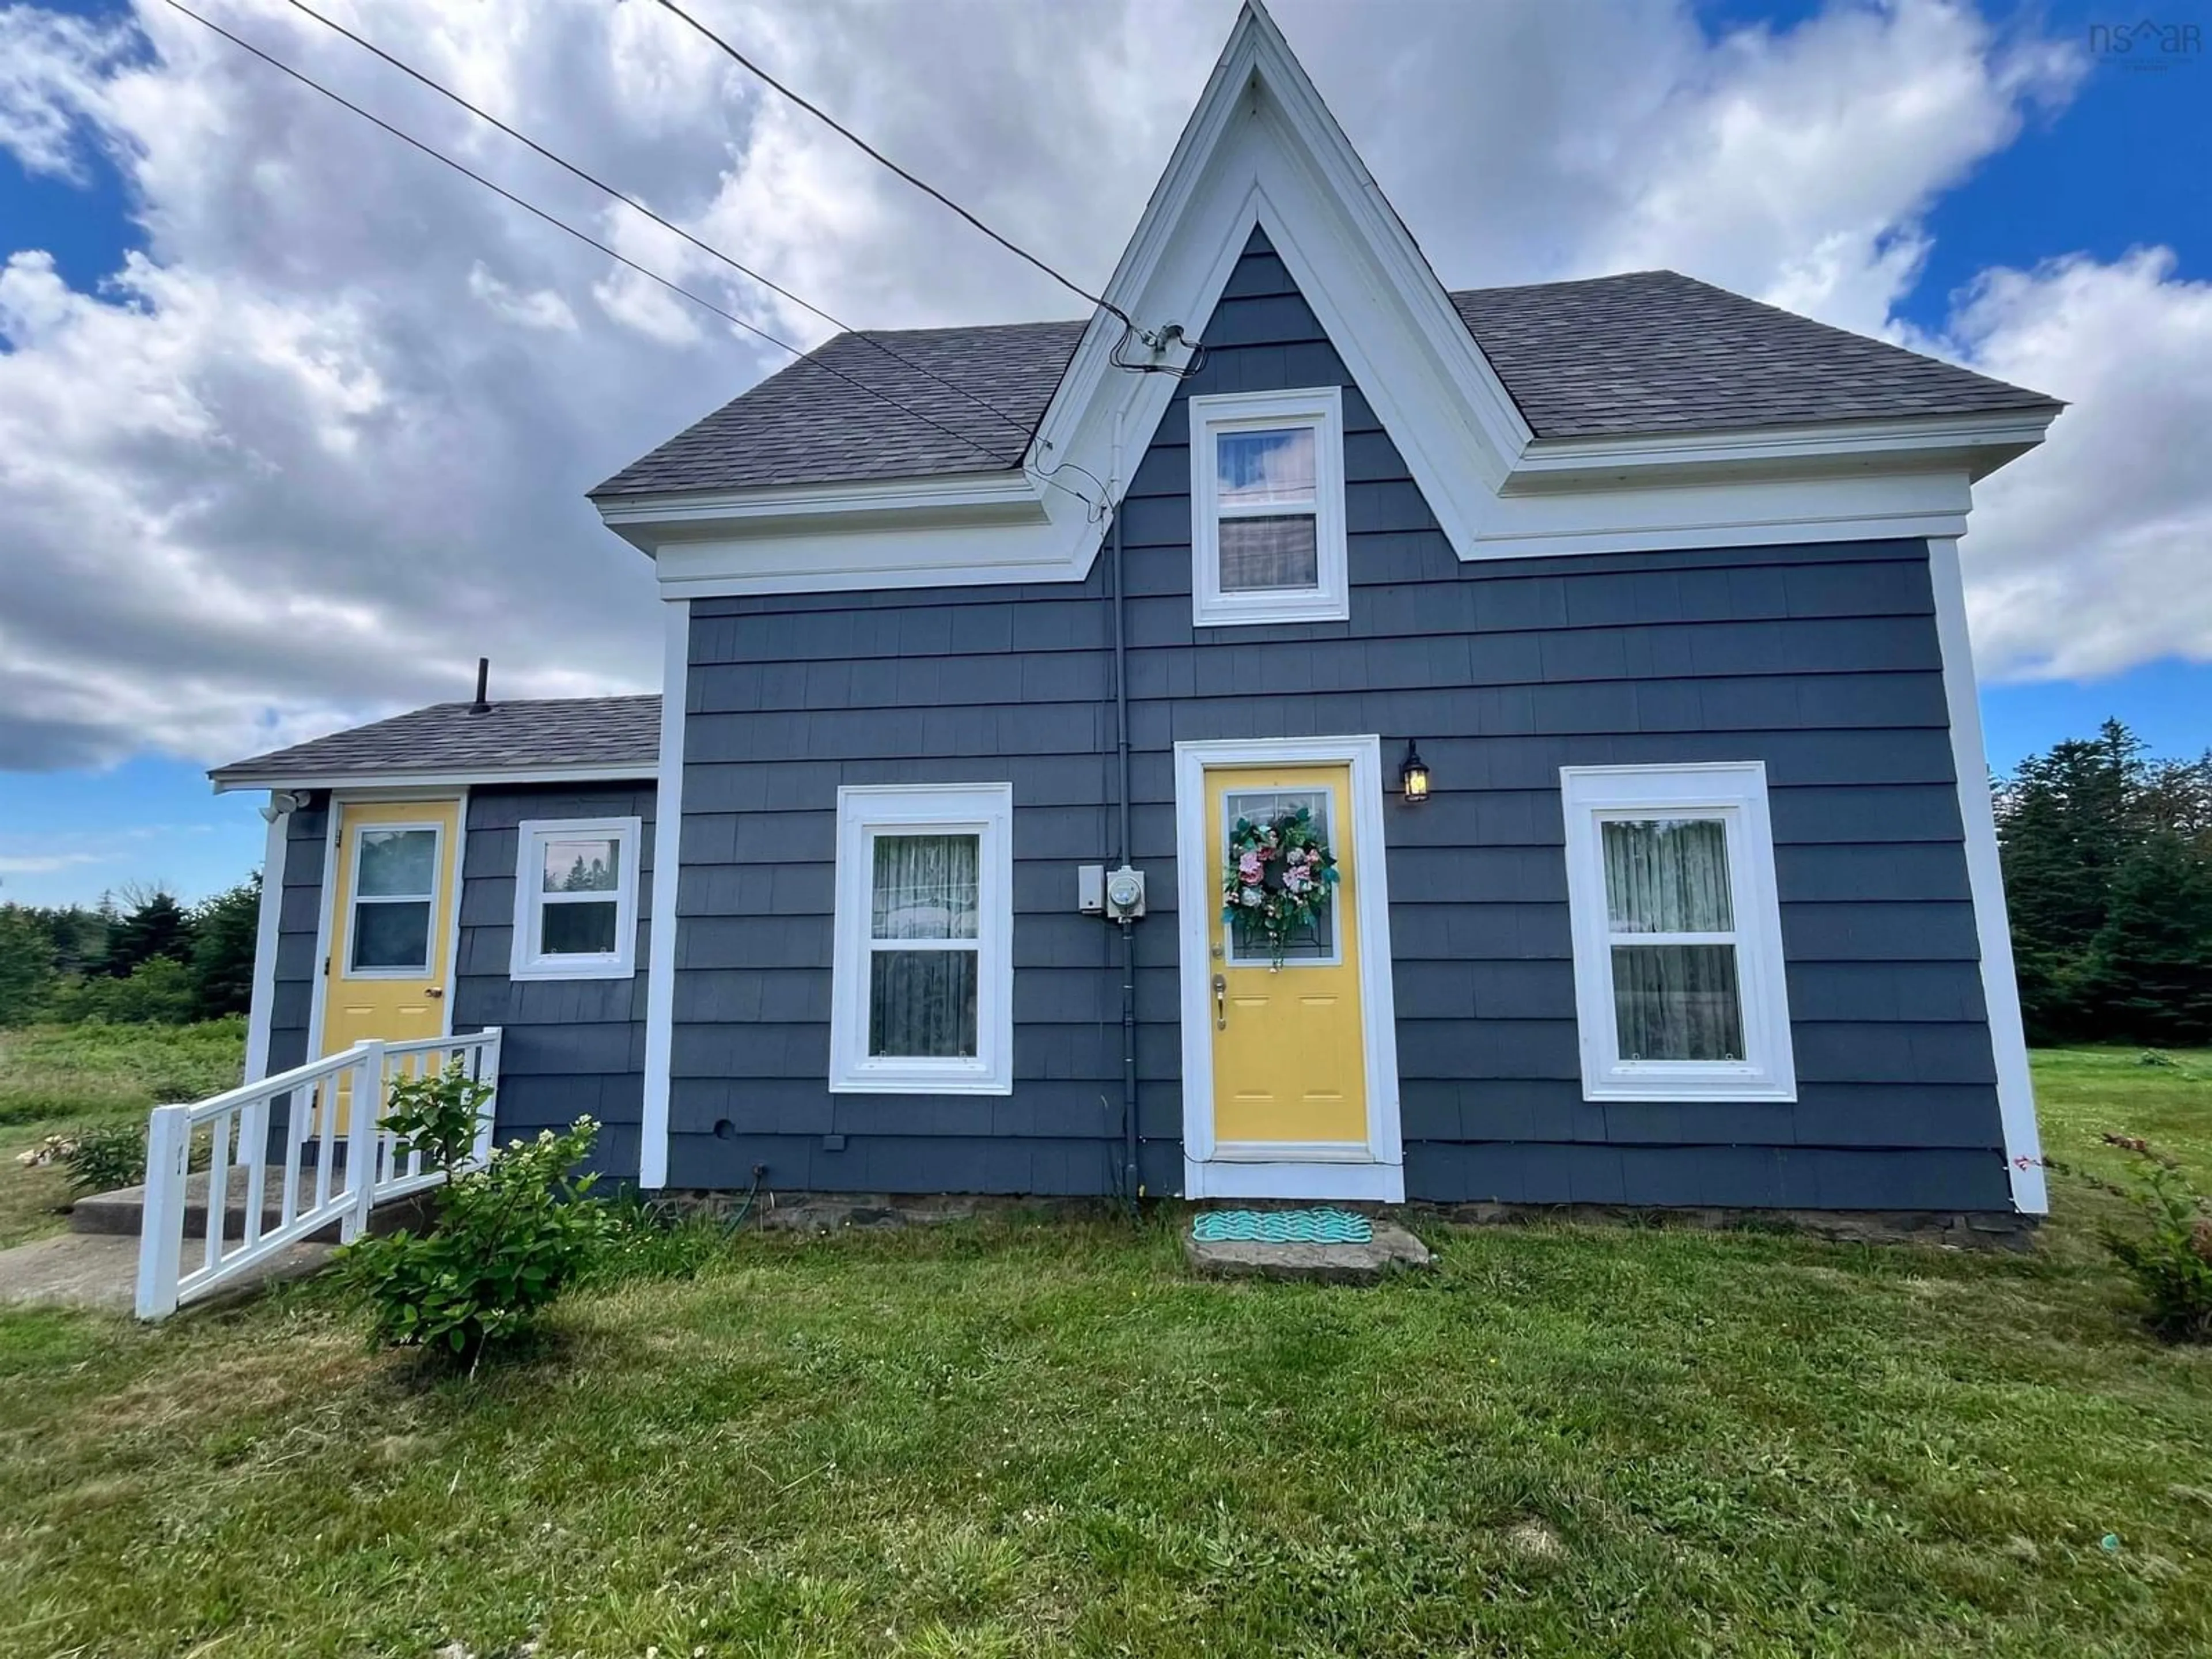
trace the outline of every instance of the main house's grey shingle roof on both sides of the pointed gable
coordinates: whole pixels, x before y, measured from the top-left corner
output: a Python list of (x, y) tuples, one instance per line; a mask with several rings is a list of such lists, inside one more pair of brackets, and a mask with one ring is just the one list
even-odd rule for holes
[[(1670, 270), (1473, 288), (1451, 303), (1537, 438), (2057, 407), (2042, 392)], [(1082, 323), (1011, 323), (838, 334), (591, 493), (1004, 471), (1020, 460), (1082, 332)]]

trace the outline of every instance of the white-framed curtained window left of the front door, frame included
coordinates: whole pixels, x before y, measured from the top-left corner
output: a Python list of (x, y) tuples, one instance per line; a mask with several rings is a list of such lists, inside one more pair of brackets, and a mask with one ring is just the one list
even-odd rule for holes
[(1013, 1093), (1013, 785), (838, 790), (830, 1088)]

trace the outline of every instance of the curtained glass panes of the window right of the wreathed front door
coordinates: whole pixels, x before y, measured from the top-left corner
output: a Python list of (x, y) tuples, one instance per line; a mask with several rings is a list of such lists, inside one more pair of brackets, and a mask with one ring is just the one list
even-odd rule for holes
[(1730, 933), (1728, 827), (1608, 821), (1606, 911), (1621, 1060), (1743, 1060), (1734, 945), (1628, 945), (1635, 933)]

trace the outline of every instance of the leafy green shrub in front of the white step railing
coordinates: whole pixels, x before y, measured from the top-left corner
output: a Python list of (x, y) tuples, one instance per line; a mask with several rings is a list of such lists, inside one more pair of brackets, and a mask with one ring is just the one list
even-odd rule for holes
[(531, 1327), (606, 1252), (615, 1223), (591, 1175), (573, 1175), (599, 1126), (580, 1117), (564, 1135), (493, 1148), (482, 1168), (458, 1172), (476, 1141), (489, 1091), (458, 1071), (392, 1088), (387, 1121), (427, 1168), (440, 1168), (429, 1232), (356, 1239), (343, 1252), (347, 1281), (372, 1310), (372, 1340), (420, 1347), (473, 1365)]

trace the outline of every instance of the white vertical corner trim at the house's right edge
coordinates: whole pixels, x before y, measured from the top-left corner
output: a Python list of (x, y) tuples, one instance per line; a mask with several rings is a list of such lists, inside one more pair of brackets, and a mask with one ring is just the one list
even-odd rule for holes
[(1973, 931), (1982, 949), (1982, 1004), (1989, 1011), (1989, 1046), (1997, 1066), (2004, 1168), (2013, 1183), (2013, 1208), (2020, 1214), (2048, 1214), (2051, 1192), (2044, 1179), (2042, 1135), (2035, 1128), (2028, 1031), (2020, 1015), (2013, 929), (2004, 911), (2004, 865), (1997, 858), (1997, 814), (1989, 799), (1989, 752), (1982, 745), (1982, 703), (1973, 684), (1966, 580), (1955, 540), (1929, 540), (1929, 582), (1936, 591), (1944, 701), (1951, 706), (1951, 770), (1958, 774), (1958, 816), (1966, 834), (1966, 889), (1973, 894)]

